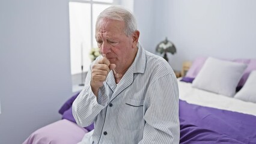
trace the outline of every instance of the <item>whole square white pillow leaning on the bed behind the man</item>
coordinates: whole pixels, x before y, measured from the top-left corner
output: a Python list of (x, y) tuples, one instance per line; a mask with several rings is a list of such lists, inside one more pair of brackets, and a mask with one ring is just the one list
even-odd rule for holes
[(192, 82), (192, 86), (233, 97), (246, 67), (246, 64), (209, 57)]

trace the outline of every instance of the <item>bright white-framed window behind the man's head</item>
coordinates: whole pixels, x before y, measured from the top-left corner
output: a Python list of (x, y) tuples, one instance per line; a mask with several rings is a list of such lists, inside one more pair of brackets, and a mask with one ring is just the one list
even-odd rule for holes
[[(117, 0), (70, 0), (70, 62), (72, 91), (80, 91), (90, 67), (90, 50), (97, 47), (95, 24), (97, 16), (105, 8), (118, 4)], [(84, 73), (82, 73), (82, 71)]]

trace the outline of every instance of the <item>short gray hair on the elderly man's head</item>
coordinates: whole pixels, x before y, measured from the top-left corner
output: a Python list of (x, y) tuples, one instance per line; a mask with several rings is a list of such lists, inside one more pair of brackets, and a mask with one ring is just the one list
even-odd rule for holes
[(99, 26), (99, 21), (104, 18), (124, 21), (124, 34), (127, 37), (137, 30), (135, 16), (123, 7), (111, 6), (103, 10), (97, 17), (96, 28)]

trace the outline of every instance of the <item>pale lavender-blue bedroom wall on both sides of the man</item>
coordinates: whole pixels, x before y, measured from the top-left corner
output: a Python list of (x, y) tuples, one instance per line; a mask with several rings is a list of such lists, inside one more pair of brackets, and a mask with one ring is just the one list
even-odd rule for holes
[[(255, 58), (256, 1), (139, 0), (134, 12), (145, 49), (167, 36), (174, 69), (200, 55)], [(72, 95), (68, 0), (1, 1), (0, 143), (22, 143), (60, 118)]]

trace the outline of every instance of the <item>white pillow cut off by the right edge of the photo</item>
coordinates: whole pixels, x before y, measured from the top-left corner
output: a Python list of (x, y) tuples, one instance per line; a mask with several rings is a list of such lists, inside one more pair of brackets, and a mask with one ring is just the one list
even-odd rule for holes
[(243, 101), (251, 101), (256, 103), (256, 71), (251, 71), (243, 88), (234, 96)]

